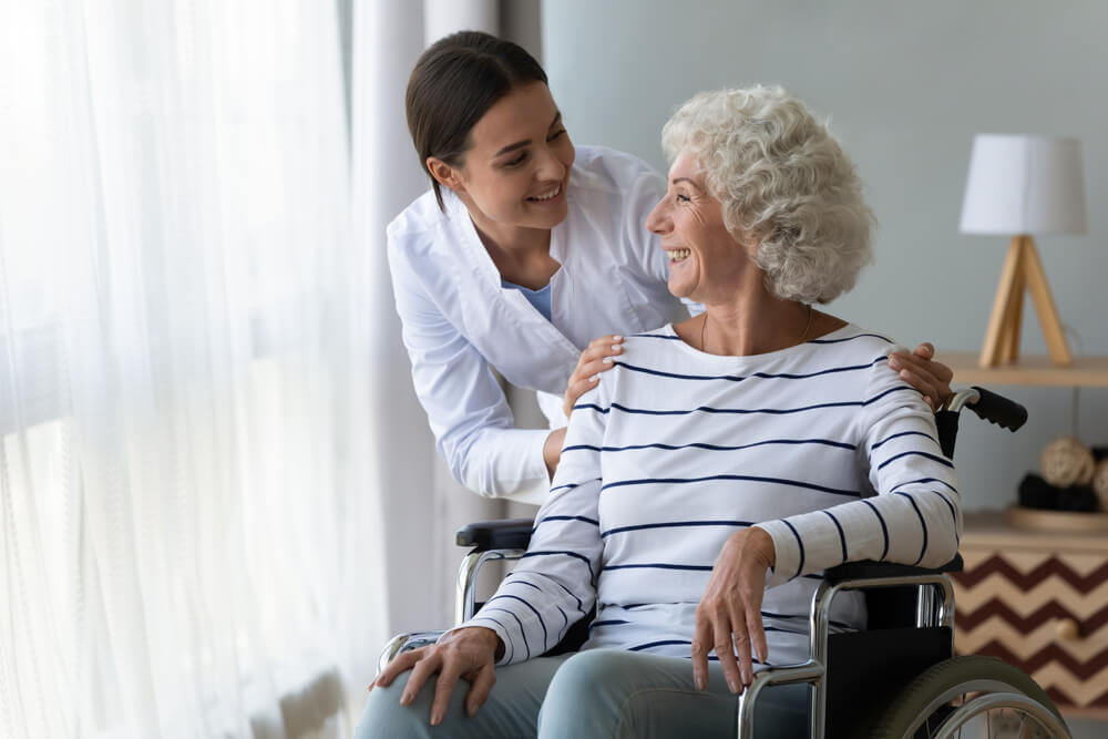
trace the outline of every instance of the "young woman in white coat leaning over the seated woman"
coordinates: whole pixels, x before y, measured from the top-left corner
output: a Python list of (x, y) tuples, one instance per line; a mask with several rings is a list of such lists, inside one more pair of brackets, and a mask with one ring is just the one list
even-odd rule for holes
[[(700, 310), (667, 290), (669, 256), (645, 226), (665, 181), (628, 154), (574, 147), (538, 62), (485, 33), (432, 44), (407, 111), (432, 189), (389, 225), (388, 249), (416, 392), (463, 485), (542, 503), (565, 409), (622, 337)], [(932, 356), (922, 345), (890, 363), (935, 407), (952, 373)], [(553, 430), (515, 428), (493, 368), (538, 391)]]

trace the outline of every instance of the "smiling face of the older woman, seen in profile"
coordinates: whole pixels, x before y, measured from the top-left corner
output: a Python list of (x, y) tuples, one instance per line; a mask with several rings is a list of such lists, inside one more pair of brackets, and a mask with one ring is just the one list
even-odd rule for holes
[(669, 291), (698, 302), (733, 298), (756, 267), (727, 226), (724, 207), (708, 193), (704, 173), (686, 155), (669, 167), (669, 187), (646, 218), (669, 255)]

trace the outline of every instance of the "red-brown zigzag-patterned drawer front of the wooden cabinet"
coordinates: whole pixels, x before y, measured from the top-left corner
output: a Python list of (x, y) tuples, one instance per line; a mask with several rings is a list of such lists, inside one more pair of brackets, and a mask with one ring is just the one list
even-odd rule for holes
[[(1059, 706), (1108, 708), (1108, 563), (1050, 552), (967, 554), (965, 572), (952, 574), (956, 650), (1023, 669)], [(1077, 622), (1078, 638), (1059, 639), (1059, 619)]]

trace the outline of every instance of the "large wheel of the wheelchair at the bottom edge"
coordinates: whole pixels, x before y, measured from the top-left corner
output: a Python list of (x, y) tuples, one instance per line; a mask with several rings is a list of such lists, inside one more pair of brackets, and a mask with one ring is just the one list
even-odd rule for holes
[(1061, 715), (1035, 680), (981, 656), (954, 657), (926, 670), (872, 726), (872, 736), (881, 739), (1069, 739)]

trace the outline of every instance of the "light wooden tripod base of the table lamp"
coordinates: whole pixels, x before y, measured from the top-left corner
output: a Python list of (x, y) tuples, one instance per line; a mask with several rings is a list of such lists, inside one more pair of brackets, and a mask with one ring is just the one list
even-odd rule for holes
[(1066, 343), (1066, 335), (1058, 320), (1058, 309), (1050, 296), (1050, 286), (1043, 271), (1035, 240), (1027, 235), (1012, 237), (1008, 256), (1001, 271), (1001, 284), (993, 301), (993, 315), (988, 319), (985, 346), (981, 350), (981, 367), (996, 367), (1014, 362), (1019, 357), (1019, 324), (1024, 305), (1024, 289), (1032, 294), (1043, 337), (1050, 352), (1050, 361), (1058, 367), (1074, 363)]

